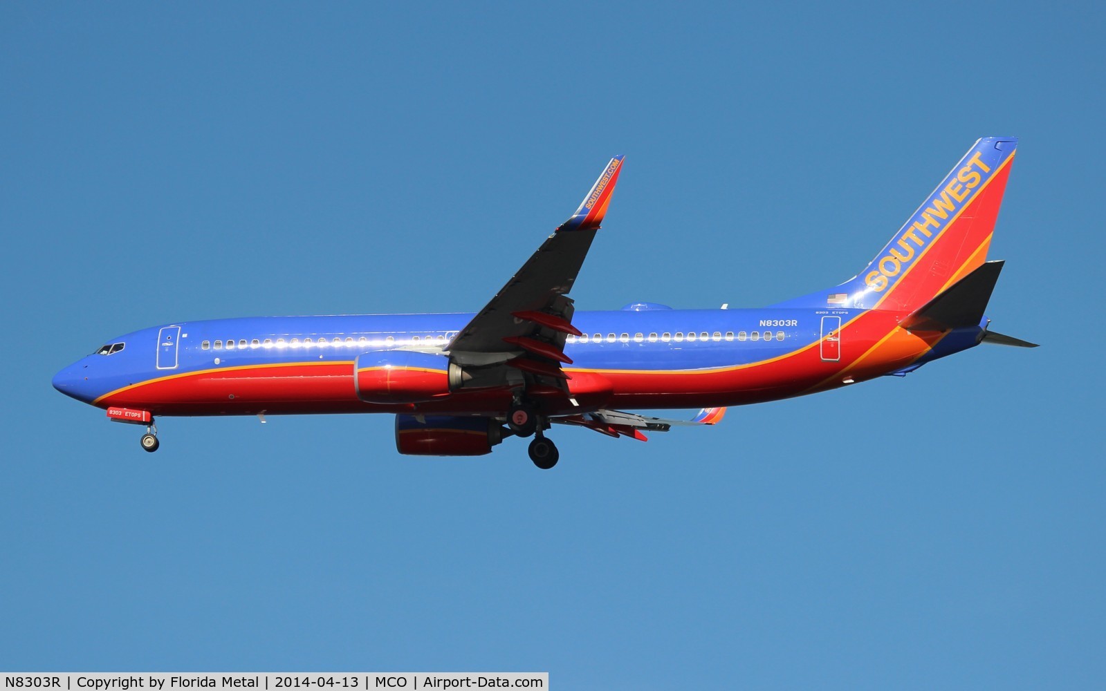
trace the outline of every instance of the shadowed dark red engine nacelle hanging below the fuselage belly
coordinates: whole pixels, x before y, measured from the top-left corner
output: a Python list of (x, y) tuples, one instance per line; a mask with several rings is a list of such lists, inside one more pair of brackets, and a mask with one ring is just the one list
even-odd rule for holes
[(483, 456), (503, 440), (491, 418), (428, 415), (396, 416), (396, 449), (408, 456)]

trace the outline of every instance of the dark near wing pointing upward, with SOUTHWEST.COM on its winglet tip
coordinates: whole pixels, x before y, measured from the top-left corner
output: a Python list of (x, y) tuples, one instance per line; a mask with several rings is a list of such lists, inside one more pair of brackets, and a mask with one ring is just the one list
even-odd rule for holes
[(538, 376), (564, 379), (560, 363), (572, 326), (566, 296), (599, 229), (622, 170), (616, 156), (584, 197), (576, 212), (550, 235), (447, 348), (460, 365), (509, 363)]

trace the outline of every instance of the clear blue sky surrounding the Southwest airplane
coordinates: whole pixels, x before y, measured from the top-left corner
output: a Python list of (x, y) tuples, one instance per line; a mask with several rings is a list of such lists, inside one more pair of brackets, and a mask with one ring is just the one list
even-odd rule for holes
[[(643, 7), (648, 6), (648, 8)], [(0, 7), (0, 667), (549, 670), (556, 689), (1106, 677), (1098, 4)], [(980, 347), (648, 443), (54, 391), (170, 321), (474, 311), (626, 154), (573, 296), (855, 274), (1021, 137)]]

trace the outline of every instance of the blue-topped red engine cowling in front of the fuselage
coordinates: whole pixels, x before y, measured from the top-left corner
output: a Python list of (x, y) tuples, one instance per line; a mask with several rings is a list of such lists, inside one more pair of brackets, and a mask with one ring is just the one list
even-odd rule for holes
[(449, 367), (436, 353), (364, 353), (354, 363), (354, 387), (365, 402), (417, 404), (449, 394)]

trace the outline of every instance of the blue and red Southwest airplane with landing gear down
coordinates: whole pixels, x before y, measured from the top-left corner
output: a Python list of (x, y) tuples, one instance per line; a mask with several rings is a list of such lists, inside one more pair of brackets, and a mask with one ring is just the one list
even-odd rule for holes
[[(980, 343), (1036, 347), (983, 314), (987, 261), (1018, 147), (975, 142), (887, 245), (838, 285), (758, 310), (634, 303), (576, 312), (568, 296), (622, 171), (611, 159), (576, 211), (476, 314), (174, 322), (116, 338), (53, 378), (62, 394), (144, 426), (155, 419), (384, 412), (413, 456), (481, 456), (546, 431), (608, 437), (716, 425), (727, 407), (905, 376)], [(701, 408), (691, 420), (624, 410)]]

